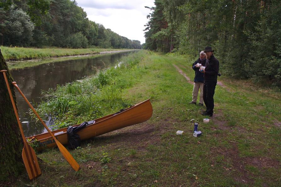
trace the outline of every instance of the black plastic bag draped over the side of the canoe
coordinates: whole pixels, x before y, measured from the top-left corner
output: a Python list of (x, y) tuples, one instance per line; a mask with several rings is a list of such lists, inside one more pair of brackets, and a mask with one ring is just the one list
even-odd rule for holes
[(66, 130), (67, 131), (67, 142), (68, 142), (69, 149), (75, 149), (76, 147), (80, 147), (81, 139), (80, 139), (79, 135), (76, 133), (87, 125), (88, 125), (88, 123), (84, 121), (83, 123), (81, 123), (80, 126), (76, 126), (76, 127), (69, 126), (67, 128), (67, 130)]

